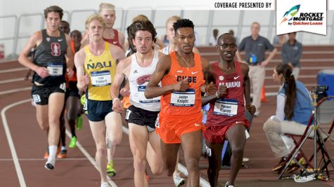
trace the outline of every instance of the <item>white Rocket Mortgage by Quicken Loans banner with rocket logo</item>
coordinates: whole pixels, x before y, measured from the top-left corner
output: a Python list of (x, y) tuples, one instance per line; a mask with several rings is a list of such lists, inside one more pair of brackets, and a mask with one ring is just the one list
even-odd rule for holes
[(277, 34), (305, 31), (326, 35), (326, 4), (321, 8), (316, 4), (305, 4), (303, 1), (303, 4), (288, 6), (288, 8), (285, 4), (284, 10), (279, 2), (276, 10)]

